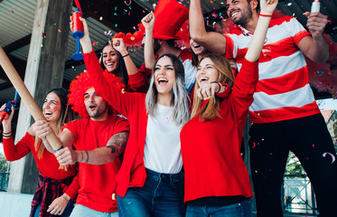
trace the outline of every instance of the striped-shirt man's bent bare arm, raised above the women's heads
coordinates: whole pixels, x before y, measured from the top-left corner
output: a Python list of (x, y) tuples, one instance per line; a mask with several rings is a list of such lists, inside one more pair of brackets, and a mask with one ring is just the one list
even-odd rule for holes
[(207, 50), (222, 55), (226, 52), (226, 38), (216, 32), (206, 32), (201, 11), (201, 0), (190, 1), (190, 35), (191, 38), (207, 48)]

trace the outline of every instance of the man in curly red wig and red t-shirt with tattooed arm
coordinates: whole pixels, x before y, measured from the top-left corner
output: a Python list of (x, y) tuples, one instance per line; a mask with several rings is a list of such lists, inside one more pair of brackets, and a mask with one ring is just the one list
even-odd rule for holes
[[(104, 76), (122, 90), (120, 78), (111, 73)], [(64, 148), (55, 156), (60, 165), (80, 163), (79, 174), (70, 185), (79, 192), (71, 217), (98, 216), (100, 212), (118, 216), (116, 175), (129, 134), (128, 122), (96, 94), (87, 73), (81, 73), (70, 83), (69, 103), (82, 119), (63, 128), (60, 139)], [(42, 128), (48, 131), (50, 127), (46, 123)]]

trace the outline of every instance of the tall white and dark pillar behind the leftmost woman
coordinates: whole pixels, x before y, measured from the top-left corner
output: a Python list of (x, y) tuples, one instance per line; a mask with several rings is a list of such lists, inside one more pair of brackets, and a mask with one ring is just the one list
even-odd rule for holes
[[(38, 0), (36, 4), (24, 83), (40, 108), (47, 91), (62, 85), (71, 7), (72, 0)], [(32, 124), (33, 118), (22, 103), (15, 143)], [(37, 175), (32, 154), (12, 163), (8, 192), (33, 193)]]

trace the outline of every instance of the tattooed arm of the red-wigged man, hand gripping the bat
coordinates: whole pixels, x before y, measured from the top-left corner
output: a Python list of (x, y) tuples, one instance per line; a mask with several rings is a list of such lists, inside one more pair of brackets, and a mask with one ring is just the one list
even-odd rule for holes
[(81, 162), (90, 165), (104, 165), (114, 161), (123, 154), (129, 132), (115, 134), (108, 140), (107, 146), (98, 147), (90, 151), (75, 151), (71, 147), (62, 148), (55, 156), (60, 165), (73, 165)]

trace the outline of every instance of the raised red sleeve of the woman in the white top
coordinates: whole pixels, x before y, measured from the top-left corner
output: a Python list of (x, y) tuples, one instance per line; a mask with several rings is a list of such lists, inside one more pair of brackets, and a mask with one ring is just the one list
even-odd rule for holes
[(84, 53), (84, 62), (89, 73), (90, 81), (94, 85), (96, 93), (103, 99), (106, 99), (108, 103), (114, 109), (117, 109), (117, 111), (124, 117), (129, 117), (135, 108), (134, 105), (138, 100), (138, 95), (141, 93), (121, 91), (117, 89), (115, 85), (110, 85), (104, 76), (102, 76), (99, 62), (96, 60), (97, 56), (95, 52)]

